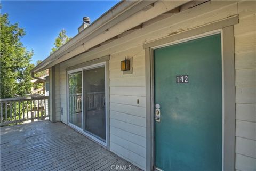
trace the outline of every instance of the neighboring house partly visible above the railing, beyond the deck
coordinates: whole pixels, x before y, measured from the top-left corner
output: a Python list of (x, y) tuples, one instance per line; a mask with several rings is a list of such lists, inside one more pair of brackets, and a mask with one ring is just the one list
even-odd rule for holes
[[(39, 79), (33, 79), (31, 80), (31, 83), (33, 83), (33, 87), (31, 88), (31, 95), (49, 95), (49, 73), (48, 70), (46, 70), (46, 74), (38, 77)], [(42, 81), (45, 80), (45, 82)], [(36, 84), (43, 84), (42, 86), (37, 86), (38, 88), (35, 89)]]

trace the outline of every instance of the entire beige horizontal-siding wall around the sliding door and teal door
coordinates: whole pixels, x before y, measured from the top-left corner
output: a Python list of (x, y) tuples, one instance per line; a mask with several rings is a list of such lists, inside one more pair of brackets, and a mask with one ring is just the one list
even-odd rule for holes
[[(211, 1), (155, 21), (131, 34), (60, 64), (61, 121), (67, 123), (66, 68), (110, 55), (110, 150), (142, 169), (146, 167), (144, 43), (239, 14), (235, 26), (236, 169), (255, 171), (256, 50), (255, 2)], [(133, 74), (120, 62), (133, 57)], [(139, 99), (139, 104), (137, 104)], [(235, 137), (234, 137), (235, 139)]]

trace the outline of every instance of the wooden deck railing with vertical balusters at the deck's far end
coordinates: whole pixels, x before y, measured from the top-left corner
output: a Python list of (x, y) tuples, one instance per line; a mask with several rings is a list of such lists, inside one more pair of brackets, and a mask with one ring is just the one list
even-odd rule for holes
[(0, 99), (1, 126), (49, 117), (49, 96)]

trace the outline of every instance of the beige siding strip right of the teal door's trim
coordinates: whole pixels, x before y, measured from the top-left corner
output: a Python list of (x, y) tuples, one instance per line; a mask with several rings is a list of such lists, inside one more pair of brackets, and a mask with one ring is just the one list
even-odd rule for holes
[(241, 171), (256, 170), (256, 2), (237, 3), (235, 25), (236, 162)]

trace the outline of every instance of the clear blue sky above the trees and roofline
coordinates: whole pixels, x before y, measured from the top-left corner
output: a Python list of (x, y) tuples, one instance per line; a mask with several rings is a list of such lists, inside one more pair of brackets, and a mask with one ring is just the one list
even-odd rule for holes
[(31, 63), (44, 60), (54, 46), (61, 29), (74, 37), (83, 17), (91, 22), (108, 11), (118, 1), (1, 1), (1, 13), (9, 14), (11, 23), (19, 23), (26, 35), (21, 42), (34, 51)]

